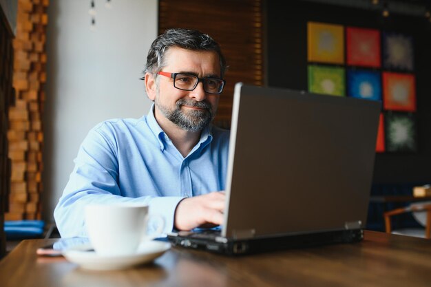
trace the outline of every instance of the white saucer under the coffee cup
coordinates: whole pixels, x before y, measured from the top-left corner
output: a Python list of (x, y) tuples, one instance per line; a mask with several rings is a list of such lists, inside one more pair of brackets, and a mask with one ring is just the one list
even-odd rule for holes
[(141, 244), (133, 255), (97, 255), (79, 246), (63, 251), (63, 256), (82, 268), (92, 270), (125, 269), (156, 259), (171, 248), (169, 242), (150, 241)]

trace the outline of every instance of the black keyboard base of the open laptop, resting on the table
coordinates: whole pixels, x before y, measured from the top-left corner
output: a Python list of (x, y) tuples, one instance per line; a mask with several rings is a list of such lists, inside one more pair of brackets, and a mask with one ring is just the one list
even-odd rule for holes
[[(184, 234), (184, 235), (182, 235)], [(280, 251), (289, 248), (306, 248), (326, 244), (341, 244), (360, 242), (364, 239), (364, 231), (361, 229), (346, 231), (328, 231), (303, 235), (286, 235), (282, 237), (266, 237), (251, 240), (229, 240), (225, 242), (215, 240), (212, 236), (200, 236), (199, 233), (175, 233), (168, 235), (169, 241), (174, 246), (193, 248), (198, 250), (222, 253), (225, 255), (246, 255), (270, 251)], [(206, 237), (206, 238), (205, 238)]]

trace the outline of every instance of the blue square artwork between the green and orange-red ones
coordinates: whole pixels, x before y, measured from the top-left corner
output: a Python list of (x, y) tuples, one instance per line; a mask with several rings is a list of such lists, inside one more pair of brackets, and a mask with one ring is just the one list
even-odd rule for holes
[(381, 80), (379, 72), (348, 70), (347, 93), (354, 98), (381, 100)]

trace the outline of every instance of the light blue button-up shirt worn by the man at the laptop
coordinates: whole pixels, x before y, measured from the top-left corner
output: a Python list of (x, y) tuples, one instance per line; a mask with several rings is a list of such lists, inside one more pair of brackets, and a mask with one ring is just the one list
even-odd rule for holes
[(54, 210), (61, 237), (86, 237), (84, 209), (92, 202), (139, 202), (174, 228), (183, 198), (226, 186), (229, 131), (209, 125), (187, 157), (154, 118), (107, 120), (83, 140), (69, 182)]

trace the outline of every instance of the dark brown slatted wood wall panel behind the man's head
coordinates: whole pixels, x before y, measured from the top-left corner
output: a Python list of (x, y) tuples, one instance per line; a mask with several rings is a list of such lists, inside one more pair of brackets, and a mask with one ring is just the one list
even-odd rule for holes
[(262, 1), (160, 0), (158, 19), (159, 34), (168, 28), (196, 29), (220, 43), (229, 69), (214, 123), (229, 128), (235, 83), (264, 84)]

